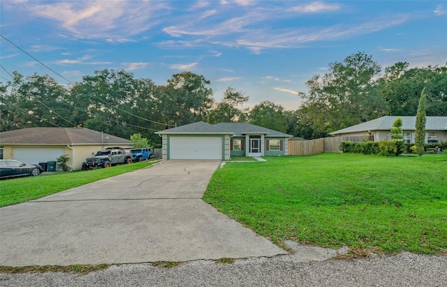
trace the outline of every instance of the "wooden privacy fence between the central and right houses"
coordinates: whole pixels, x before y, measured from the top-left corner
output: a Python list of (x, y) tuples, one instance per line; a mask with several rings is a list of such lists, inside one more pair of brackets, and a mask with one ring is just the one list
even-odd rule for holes
[[(310, 156), (312, 154), (321, 154), (323, 152), (342, 152), (339, 149), (341, 142), (360, 142), (365, 140), (362, 136), (344, 136), (334, 138), (318, 138), (318, 140), (289, 140), (289, 156)], [(374, 141), (374, 136), (366, 138)]]

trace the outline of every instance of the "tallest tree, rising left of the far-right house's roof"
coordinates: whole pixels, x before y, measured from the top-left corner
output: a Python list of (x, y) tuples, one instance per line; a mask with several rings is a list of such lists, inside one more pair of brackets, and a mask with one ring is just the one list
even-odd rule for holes
[(381, 67), (372, 56), (358, 52), (329, 68), (329, 73), (308, 80), (309, 94), (301, 94), (314, 129), (335, 131), (386, 114), (376, 81)]

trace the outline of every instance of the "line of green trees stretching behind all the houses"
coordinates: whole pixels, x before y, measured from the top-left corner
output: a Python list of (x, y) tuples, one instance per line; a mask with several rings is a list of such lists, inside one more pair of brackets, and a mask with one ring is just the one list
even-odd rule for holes
[(108, 69), (67, 86), (49, 75), (11, 76), (0, 82), (1, 131), (80, 126), (122, 138), (140, 133), (159, 145), (154, 131), (175, 125), (250, 122), (312, 139), (383, 115), (414, 116), (424, 88), (427, 116), (447, 116), (447, 64), (409, 68), (399, 62), (382, 73), (363, 52), (329, 64), (328, 73), (308, 80), (309, 91), (300, 93), (297, 110), (270, 101), (244, 108), (249, 96), (233, 87), (216, 102), (211, 82), (188, 71), (173, 75), (166, 85)]

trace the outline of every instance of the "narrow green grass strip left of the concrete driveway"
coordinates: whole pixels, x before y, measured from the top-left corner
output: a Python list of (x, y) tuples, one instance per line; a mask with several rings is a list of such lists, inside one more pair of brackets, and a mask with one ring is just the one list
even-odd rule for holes
[(156, 161), (142, 161), (129, 165), (117, 165), (112, 168), (96, 170), (55, 172), (37, 177), (21, 177), (0, 180), (0, 207), (24, 203), (28, 200), (43, 198), (53, 193), (71, 189), (82, 184), (121, 175), (152, 165)]

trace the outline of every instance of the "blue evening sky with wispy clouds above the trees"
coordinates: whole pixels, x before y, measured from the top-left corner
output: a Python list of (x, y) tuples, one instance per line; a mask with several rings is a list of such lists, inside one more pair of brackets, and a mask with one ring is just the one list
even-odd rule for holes
[[(447, 1), (2, 0), (0, 34), (46, 66), (79, 82), (105, 68), (163, 85), (191, 71), (227, 87), (250, 108), (302, 103), (312, 76), (357, 52), (386, 68), (447, 62)], [(0, 38), (0, 81), (64, 78)]]

